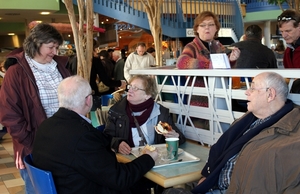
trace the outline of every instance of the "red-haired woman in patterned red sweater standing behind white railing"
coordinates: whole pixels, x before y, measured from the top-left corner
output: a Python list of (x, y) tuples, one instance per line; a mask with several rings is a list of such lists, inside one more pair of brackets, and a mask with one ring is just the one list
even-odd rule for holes
[[(210, 54), (225, 53), (225, 47), (215, 38), (218, 37), (220, 30), (220, 22), (218, 17), (210, 12), (201, 12), (194, 20), (195, 38), (188, 43), (177, 59), (178, 69), (209, 69), (212, 68)], [(229, 61), (233, 66), (240, 56), (240, 50), (233, 48)], [(191, 84), (190, 81), (189, 84)], [(202, 77), (197, 77), (195, 82), (196, 87), (205, 87)], [(191, 97), (191, 105), (208, 107), (208, 99), (205, 96)], [(198, 128), (209, 128), (208, 120), (192, 118), (194, 125)]]

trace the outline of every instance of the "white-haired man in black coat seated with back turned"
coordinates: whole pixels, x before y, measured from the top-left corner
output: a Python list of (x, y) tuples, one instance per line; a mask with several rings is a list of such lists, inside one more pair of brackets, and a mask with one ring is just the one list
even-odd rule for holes
[(129, 189), (155, 164), (157, 151), (123, 164), (111, 150), (112, 137), (85, 117), (92, 90), (80, 76), (58, 86), (59, 110), (46, 119), (33, 143), (33, 164), (52, 172), (57, 193), (130, 193)]

